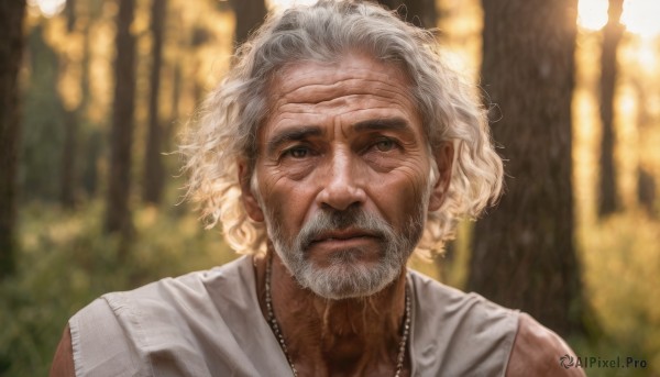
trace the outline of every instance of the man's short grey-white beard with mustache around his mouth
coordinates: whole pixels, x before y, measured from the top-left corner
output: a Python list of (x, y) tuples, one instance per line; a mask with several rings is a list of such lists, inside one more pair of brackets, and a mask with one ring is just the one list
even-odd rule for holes
[[(413, 254), (424, 232), (429, 193), (422, 196), (402, 234), (385, 220), (359, 208), (321, 210), (292, 241), (285, 240), (272, 213), (266, 215), (266, 228), (275, 252), (300, 286), (332, 300), (369, 297), (392, 284)], [(360, 247), (334, 252), (326, 266), (318, 266), (308, 258), (307, 248), (315, 236), (349, 226), (377, 235), (381, 242), (375, 265), (360, 260), (365, 252)]]

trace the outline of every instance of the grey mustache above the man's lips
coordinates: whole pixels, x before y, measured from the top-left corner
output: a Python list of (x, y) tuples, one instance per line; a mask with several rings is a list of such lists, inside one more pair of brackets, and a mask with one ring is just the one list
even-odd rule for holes
[(306, 250), (312, 241), (323, 233), (332, 231), (342, 231), (353, 229), (373, 234), (385, 240), (394, 234), (392, 225), (383, 218), (372, 212), (367, 212), (358, 207), (350, 207), (343, 211), (322, 210), (318, 211), (300, 230), (296, 242)]

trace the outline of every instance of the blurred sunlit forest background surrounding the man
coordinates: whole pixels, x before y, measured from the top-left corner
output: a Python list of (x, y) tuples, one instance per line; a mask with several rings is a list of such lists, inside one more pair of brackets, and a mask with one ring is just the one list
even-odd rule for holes
[[(592, 375), (660, 376), (660, 2), (382, 2), (438, 27), (507, 159), (499, 206), (414, 267), (532, 313), (580, 356), (646, 363)], [(235, 257), (182, 202), (172, 152), (235, 41), (285, 5), (3, 2), (0, 375), (45, 375), (103, 292)]]

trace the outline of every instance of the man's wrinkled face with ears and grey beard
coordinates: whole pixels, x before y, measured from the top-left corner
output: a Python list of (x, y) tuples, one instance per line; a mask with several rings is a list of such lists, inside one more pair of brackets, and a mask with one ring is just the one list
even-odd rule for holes
[(242, 187), (248, 213), (266, 222), (284, 264), (317, 295), (383, 289), (442, 201), (447, 177), (431, 181), (430, 173), (451, 148), (429, 155), (407, 77), (364, 55), (289, 65), (268, 98), (255, 192)]

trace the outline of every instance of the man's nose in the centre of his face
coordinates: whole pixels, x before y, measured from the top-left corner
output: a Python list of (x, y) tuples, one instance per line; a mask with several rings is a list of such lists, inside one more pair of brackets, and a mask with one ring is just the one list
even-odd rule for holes
[(364, 179), (360, 177), (350, 152), (333, 153), (321, 174), (324, 175), (326, 185), (317, 196), (317, 204), (320, 208), (343, 211), (365, 202), (366, 192), (362, 186)]

